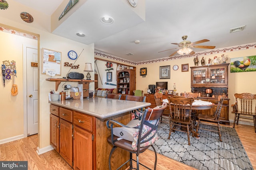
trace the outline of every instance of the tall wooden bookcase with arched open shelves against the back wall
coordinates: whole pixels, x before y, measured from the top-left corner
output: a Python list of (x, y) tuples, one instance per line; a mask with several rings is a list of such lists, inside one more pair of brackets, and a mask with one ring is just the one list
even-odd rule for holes
[(117, 93), (133, 95), (136, 88), (136, 70), (126, 69), (116, 71), (117, 77)]

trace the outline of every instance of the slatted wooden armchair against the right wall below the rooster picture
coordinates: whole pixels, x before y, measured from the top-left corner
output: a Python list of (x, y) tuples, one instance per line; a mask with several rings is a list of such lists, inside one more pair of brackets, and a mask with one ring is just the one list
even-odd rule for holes
[[(256, 94), (242, 93), (234, 94), (236, 98), (236, 103), (232, 104), (232, 113), (235, 114), (233, 127), (238, 125), (239, 121), (244, 121), (242, 119), (252, 119), (254, 122), (254, 131), (256, 133)], [(248, 122), (248, 121), (244, 121)]]

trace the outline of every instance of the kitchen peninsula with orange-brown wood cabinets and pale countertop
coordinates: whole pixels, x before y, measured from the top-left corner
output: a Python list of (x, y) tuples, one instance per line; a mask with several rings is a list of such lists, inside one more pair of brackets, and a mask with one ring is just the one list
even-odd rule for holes
[[(108, 169), (108, 157), (113, 146), (107, 142), (110, 130), (106, 121), (113, 119), (127, 124), (131, 120), (130, 111), (151, 105), (107, 98), (49, 103), (52, 147), (72, 168), (90, 170)], [(113, 155), (112, 169), (117, 169), (129, 158), (129, 153), (121, 149), (116, 149)]]

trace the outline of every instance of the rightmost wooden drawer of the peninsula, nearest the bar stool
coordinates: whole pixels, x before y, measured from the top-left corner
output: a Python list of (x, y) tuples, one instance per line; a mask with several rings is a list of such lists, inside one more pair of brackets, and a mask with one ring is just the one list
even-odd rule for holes
[(74, 111), (73, 113), (73, 124), (78, 125), (88, 131), (93, 131), (94, 117)]

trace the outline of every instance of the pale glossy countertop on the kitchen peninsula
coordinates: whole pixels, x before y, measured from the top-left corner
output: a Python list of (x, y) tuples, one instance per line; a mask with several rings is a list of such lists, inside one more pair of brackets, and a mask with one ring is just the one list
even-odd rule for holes
[(79, 111), (81, 113), (86, 113), (98, 118), (106, 118), (142, 107), (147, 108), (151, 105), (150, 103), (146, 102), (134, 102), (107, 98), (49, 101), (49, 103), (56, 106), (65, 107), (67, 109)]

